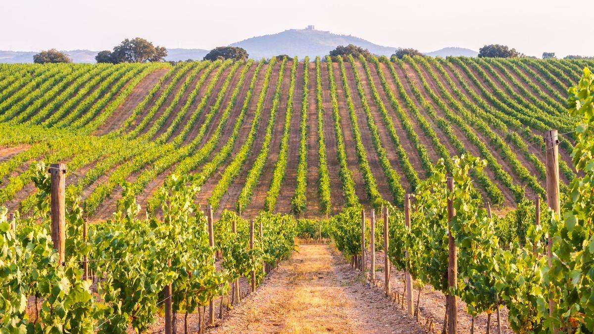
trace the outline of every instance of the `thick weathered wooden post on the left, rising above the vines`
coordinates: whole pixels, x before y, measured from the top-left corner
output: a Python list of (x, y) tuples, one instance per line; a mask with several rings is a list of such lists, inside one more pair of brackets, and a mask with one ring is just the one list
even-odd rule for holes
[(66, 182), (66, 164), (52, 163), (49, 166), (51, 176), (52, 207), (52, 242), (58, 251), (59, 263), (64, 266), (66, 245), (66, 208), (64, 185)]

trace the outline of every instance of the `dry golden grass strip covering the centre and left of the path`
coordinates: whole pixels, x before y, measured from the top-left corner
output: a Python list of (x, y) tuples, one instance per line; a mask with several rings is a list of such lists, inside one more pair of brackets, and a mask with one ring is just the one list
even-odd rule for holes
[[(327, 245), (301, 247), (283, 264), (282, 284), (265, 285), (245, 308), (241, 322), (224, 332), (353, 333), (352, 304), (333, 272)], [(357, 282), (359, 281), (356, 278)], [(266, 300), (259, 297), (268, 296)], [(270, 298), (270, 296), (272, 296)]]

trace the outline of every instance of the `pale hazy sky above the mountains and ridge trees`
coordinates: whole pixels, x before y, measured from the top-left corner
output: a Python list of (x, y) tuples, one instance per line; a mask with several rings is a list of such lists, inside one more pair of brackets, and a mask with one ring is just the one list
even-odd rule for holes
[(593, 0), (2, 0), (0, 49), (112, 49), (126, 37), (211, 49), (302, 29), (423, 52), (503, 43), (527, 55), (594, 55)]

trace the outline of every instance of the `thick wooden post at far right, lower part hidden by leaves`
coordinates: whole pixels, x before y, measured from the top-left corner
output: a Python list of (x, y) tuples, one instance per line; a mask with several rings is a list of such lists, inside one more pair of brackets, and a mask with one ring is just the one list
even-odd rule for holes
[[(553, 210), (557, 219), (561, 217), (561, 207), (559, 204), (559, 137), (557, 130), (549, 130), (545, 133), (545, 168), (546, 168), (546, 203)], [(546, 247), (546, 256), (548, 257), (549, 267), (551, 267), (552, 257), (552, 238), (549, 235), (548, 245)], [(549, 299), (549, 316), (552, 317), (555, 309), (555, 301)], [(557, 333), (557, 329), (554, 328)]]

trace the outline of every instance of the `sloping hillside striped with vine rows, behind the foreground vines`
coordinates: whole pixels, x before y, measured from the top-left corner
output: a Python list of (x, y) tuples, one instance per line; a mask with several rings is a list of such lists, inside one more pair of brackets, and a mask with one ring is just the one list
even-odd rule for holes
[[(110, 216), (121, 182), (132, 183), (144, 210), (171, 174), (197, 175), (197, 201), (216, 215), (241, 209), (245, 217), (289, 212), (305, 182), (303, 215), (317, 217), (352, 201), (400, 205), (438, 159), (448, 165), (467, 152), (488, 161), (475, 175), (478, 194), (504, 210), (544, 194), (541, 135), (573, 130), (565, 92), (584, 65), (594, 62), (5, 65), (0, 157), (67, 162), (67, 185), (93, 219)], [(567, 184), (572, 140), (564, 139)], [(0, 163), (0, 203), (9, 212), (32, 209), (33, 169)]]

